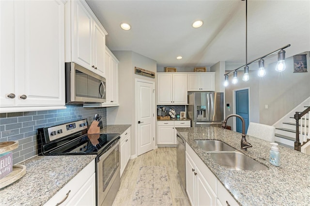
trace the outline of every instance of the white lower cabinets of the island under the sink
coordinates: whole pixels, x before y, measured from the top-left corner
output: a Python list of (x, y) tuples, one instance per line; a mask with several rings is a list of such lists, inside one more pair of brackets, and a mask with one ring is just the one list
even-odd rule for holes
[(187, 143), (186, 193), (192, 206), (239, 206)]

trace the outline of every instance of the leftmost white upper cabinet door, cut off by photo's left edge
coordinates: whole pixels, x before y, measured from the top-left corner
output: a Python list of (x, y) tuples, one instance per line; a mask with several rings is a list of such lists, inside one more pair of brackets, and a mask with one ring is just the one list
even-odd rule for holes
[(13, 107), (14, 72), (14, 1), (0, 0), (0, 106)]

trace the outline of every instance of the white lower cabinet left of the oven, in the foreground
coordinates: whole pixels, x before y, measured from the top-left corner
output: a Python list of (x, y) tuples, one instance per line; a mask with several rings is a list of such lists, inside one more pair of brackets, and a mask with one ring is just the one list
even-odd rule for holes
[(95, 160), (59, 190), (44, 206), (96, 205)]

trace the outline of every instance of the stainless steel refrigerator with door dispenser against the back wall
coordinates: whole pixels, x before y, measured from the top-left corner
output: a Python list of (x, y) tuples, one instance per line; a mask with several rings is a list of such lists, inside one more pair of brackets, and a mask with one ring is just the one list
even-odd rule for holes
[(224, 121), (224, 94), (222, 92), (189, 92), (187, 117), (191, 127), (221, 127)]

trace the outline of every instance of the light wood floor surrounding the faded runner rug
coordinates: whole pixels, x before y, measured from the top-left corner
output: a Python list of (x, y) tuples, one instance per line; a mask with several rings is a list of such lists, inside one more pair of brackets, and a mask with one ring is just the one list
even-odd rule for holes
[(158, 149), (140, 155), (138, 158), (130, 159), (121, 178), (120, 190), (117, 192), (112, 206), (131, 205), (141, 166), (166, 166), (173, 206), (190, 206), (176, 168), (175, 147), (158, 147)]

